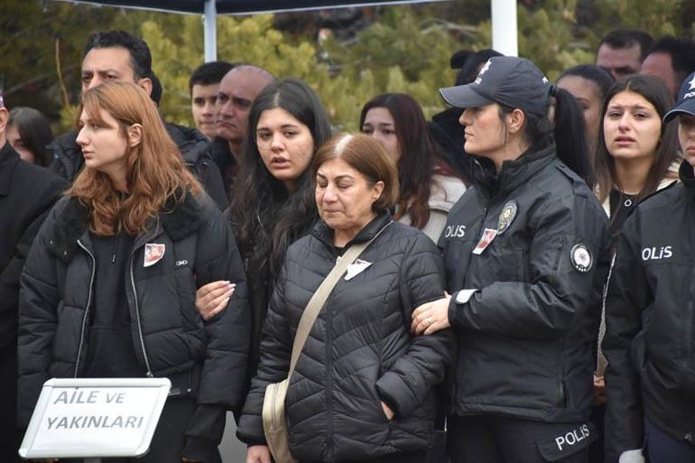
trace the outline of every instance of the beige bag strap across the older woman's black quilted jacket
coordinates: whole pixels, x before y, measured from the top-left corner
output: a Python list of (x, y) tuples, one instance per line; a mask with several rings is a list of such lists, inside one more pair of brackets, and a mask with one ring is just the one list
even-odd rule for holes
[(379, 230), (378, 233), (376, 233), (376, 235), (373, 236), (369, 241), (348, 247), (345, 254), (338, 259), (338, 262), (330, 271), (328, 276), (326, 276), (323, 282), (321, 282), (319, 288), (311, 296), (311, 299), (307, 303), (304, 312), (301, 314), (300, 324), (299, 327), (297, 327), (297, 334), (294, 336), (294, 342), (292, 343), (292, 357), (290, 360), (290, 371), (287, 374), (288, 379), (292, 377), (294, 366), (297, 365), (297, 361), (300, 358), (301, 349), (304, 348), (304, 343), (306, 342), (307, 338), (309, 338), (309, 333), (311, 331), (311, 327), (314, 325), (314, 321), (316, 321), (321, 308), (329, 298), (330, 292), (333, 291), (333, 288), (335, 288), (336, 284), (338, 284), (338, 280), (340, 280), (340, 277), (343, 275), (343, 273), (345, 273), (347, 266), (355, 262), (357, 257), (362, 254), (366, 247), (372, 244), (372, 241), (376, 239), (376, 236), (381, 235), (381, 232), (383, 232), (385, 228), (392, 223), (394, 223), (393, 220), (382, 227), (382, 229)]

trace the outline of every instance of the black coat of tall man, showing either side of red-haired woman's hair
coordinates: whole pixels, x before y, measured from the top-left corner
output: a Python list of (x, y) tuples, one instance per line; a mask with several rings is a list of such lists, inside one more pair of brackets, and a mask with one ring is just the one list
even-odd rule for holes
[[(229, 206), (227, 193), (217, 164), (212, 160), (208, 139), (196, 129), (165, 123), (171, 140), (179, 147), (184, 164), (200, 181), (209, 197), (217, 203), (219, 210)], [(76, 140), (75, 131), (63, 134), (47, 146), (53, 153), (49, 169), (72, 183), (85, 165), (82, 149)]]

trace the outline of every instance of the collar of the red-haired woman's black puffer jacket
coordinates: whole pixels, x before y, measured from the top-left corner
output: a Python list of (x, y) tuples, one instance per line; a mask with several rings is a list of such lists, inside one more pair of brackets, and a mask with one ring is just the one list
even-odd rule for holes
[[(164, 230), (172, 241), (179, 241), (185, 236), (198, 231), (204, 224), (202, 206), (192, 194), (186, 194), (183, 202), (177, 202), (173, 197), (167, 199), (158, 218), (151, 219), (146, 230), (136, 239), (136, 245), (144, 236), (153, 237)], [(49, 249), (61, 261), (69, 263), (75, 255), (78, 240), (88, 229), (89, 208), (79, 199), (70, 197), (65, 207), (60, 209), (56, 218), (54, 235), (49, 239)]]

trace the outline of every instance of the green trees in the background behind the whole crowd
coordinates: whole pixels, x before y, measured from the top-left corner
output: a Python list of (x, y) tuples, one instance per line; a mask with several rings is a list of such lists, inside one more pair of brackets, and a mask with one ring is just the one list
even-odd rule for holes
[[(336, 128), (353, 131), (361, 107), (384, 92), (411, 94), (431, 116), (443, 106), (438, 88), (454, 81), (451, 53), (491, 47), (489, 0), (366, 11), (371, 23), (356, 36), (321, 42), (313, 29), (292, 34), (273, 28), (269, 14), (218, 16), (218, 59), (306, 80)], [(556, 79), (563, 69), (592, 62), (600, 37), (611, 29), (639, 28), (655, 37), (692, 35), (693, 17), (695, 4), (689, 0), (524, 0), (518, 7), (519, 51)], [(192, 125), (188, 80), (203, 61), (202, 22), (193, 14), (50, 0), (0, 2), (0, 88), (8, 102), (60, 116), (61, 128), (69, 127), (88, 32), (115, 28), (139, 34), (150, 45), (164, 89), (162, 115)], [(57, 40), (63, 86), (57, 78)]]

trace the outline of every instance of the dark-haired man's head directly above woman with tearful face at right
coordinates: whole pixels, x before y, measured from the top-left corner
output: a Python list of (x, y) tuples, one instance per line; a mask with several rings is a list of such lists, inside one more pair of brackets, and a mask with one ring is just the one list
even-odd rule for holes
[(636, 29), (608, 32), (598, 44), (596, 65), (616, 80), (637, 74), (652, 42), (651, 35)]

